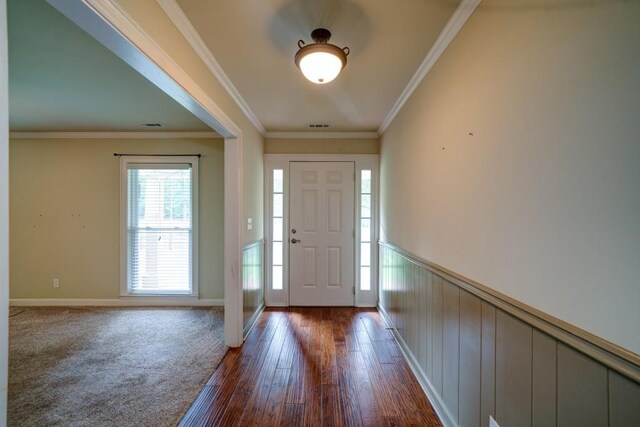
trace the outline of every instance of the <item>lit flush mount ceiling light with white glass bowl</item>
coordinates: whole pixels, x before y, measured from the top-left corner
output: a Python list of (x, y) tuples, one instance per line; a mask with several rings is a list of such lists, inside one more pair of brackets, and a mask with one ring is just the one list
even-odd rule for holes
[(350, 50), (348, 47), (340, 49), (327, 43), (331, 32), (324, 28), (313, 30), (311, 38), (314, 43), (308, 45), (303, 40), (298, 41), (300, 49), (296, 52), (296, 65), (309, 81), (316, 84), (329, 83), (347, 65)]

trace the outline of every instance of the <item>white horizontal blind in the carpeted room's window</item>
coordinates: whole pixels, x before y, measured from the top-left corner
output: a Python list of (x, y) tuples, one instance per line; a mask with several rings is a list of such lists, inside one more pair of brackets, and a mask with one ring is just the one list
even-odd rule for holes
[(127, 293), (192, 293), (193, 179), (188, 163), (126, 163)]

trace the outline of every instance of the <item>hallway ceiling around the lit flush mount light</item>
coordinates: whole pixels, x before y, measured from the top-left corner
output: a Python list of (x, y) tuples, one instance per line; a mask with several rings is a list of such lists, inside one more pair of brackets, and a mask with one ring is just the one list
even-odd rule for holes
[[(376, 131), (459, 0), (177, 0), (267, 131)], [(307, 81), (293, 57), (325, 27), (351, 53), (326, 85)]]

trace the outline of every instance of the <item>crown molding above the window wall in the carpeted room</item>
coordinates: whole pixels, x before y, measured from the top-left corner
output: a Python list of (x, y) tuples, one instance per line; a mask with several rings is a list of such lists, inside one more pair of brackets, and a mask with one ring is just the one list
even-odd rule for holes
[(211, 139), (215, 132), (10, 132), (11, 139)]

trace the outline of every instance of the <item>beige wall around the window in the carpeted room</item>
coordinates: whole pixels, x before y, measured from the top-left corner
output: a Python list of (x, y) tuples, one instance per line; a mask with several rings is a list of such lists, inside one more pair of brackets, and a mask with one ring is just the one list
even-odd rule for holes
[[(202, 154), (200, 298), (222, 299), (222, 139), (12, 139), (11, 298), (118, 298), (120, 160), (114, 152)], [(53, 288), (53, 278), (60, 288)]]

